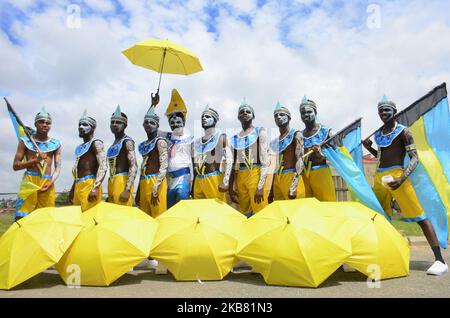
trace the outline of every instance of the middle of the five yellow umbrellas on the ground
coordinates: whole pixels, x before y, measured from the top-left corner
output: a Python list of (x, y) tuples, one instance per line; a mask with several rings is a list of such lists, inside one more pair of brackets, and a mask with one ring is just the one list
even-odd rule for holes
[(157, 218), (150, 255), (177, 280), (220, 280), (235, 262), (245, 216), (216, 199), (183, 200)]

